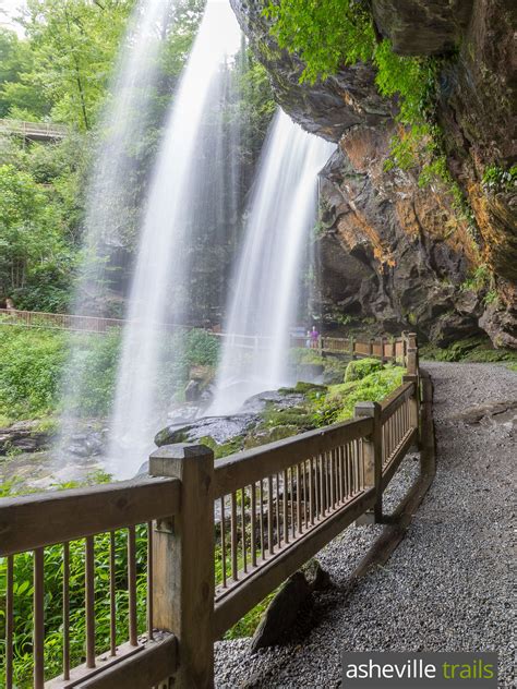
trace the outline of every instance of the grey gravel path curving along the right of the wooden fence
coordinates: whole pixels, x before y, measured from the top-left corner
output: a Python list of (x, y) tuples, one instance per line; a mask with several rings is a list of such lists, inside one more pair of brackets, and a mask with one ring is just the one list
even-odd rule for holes
[[(405, 540), (387, 565), (354, 587), (348, 578), (378, 527), (352, 527), (318, 556), (336, 588), (318, 594), (316, 620), (285, 648), (249, 653), (249, 641), (216, 644), (216, 686), (339, 687), (341, 648), (350, 651), (500, 653), (500, 687), (515, 688), (517, 410), (477, 424), (467, 407), (517, 400), (517, 374), (493, 364), (426, 363), (434, 385), (437, 473)], [(389, 508), (417, 475), (402, 463)]]

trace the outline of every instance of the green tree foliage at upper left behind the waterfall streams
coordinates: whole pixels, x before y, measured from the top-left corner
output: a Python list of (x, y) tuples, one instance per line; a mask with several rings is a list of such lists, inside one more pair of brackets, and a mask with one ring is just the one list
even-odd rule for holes
[[(2, 168), (2, 183), (10, 189), (3, 201), (7, 216), (0, 227), (0, 303), (9, 297), (17, 307), (68, 309), (81, 261), (88, 189), (93, 180), (100, 179), (93, 172), (94, 161), (101, 148), (112, 147), (117, 156), (111, 159), (121, 160), (124, 184), (116, 185), (116, 193), (108, 184), (97, 196), (112, 208), (115, 221), (106, 232), (108, 243), (113, 240), (109, 247), (118, 247), (112, 252), (113, 261), (109, 261), (106, 311), (120, 315), (112, 307), (120, 310), (122, 305), (151, 170), (205, 5), (205, 0), (163, 2), (167, 11), (148, 37), (149, 61), (157, 68), (156, 75), (152, 70), (153, 80), (131, 84), (139, 94), (142, 90), (142, 97), (130, 99), (137, 106), (127, 107), (123, 117), (130, 123), (127, 129), (135, 124), (137, 135), (129, 136), (122, 149), (119, 122), (107, 113), (116, 99), (113, 76), (120, 69), (120, 56), (132, 46), (134, 29), (143, 19), (137, 12), (145, 8), (132, 15), (135, 0), (27, 0), (21, 19), (25, 36), (0, 32), (0, 117), (68, 125), (67, 136), (55, 144), (0, 136), (0, 166), (9, 166)], [(130, 16), (134, 16), (134, 24)], [(225, 155), (239, 160), (238, 196), (243, 205), (275, 104), (266, 72), (244, 45), (235, 65), (229, 62), (226, 69), (235, 96), (225, 112), (224, 126), (228, 125), (228, 132), (235, 126), (241, 135), (230, 142), (231, 150)], [(142, 123), (139, 106), (144, 97), (148, 107)], [(25, 203), (24, 189), (27, 194), (31, 190), (34, 203)], [(201, 293), (205, 299), (211, 276), (221, 282), (228, 279), (240, 209), (236, 208), (231, 228), (211, 226), (207, 231), (206, 226), (206, 246), (194, 244), (193, 251), (206, 255), (208, 267), (193, 277), (193, 301)], [(217, 234), (219, 229), (221, 237)], [(223, 303), (219, 288), (211, 291), (211, 313)]]

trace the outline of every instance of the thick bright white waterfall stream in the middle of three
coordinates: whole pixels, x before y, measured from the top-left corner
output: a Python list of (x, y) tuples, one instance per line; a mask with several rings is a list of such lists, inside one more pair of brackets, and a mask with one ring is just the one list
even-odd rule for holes
[(196, 259), (192, 232), (203, 230), (195, 225), (200, 208), (206, 208), (211, 176), (225, 177), (212, 165), (218, 145), (214, 136), (217, 118), (224, 117), (224, 65), (237, 53), (240, 37), (229, 2), (208, 0), (173, 98), (141, 230), (108, 452), (109, 470), (119, 478), (134, 473), (146, 459), (166, 418), (157, 399), (164, 392), (160, 324), (188, 318), (185, 293)]

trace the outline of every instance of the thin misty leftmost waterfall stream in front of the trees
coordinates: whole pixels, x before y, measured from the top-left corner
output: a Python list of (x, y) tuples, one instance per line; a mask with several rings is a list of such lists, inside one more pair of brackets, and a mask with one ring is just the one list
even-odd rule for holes
[[(133, 192), (129, 180), (134, 176), (135, 142), (145, 137), (153, 117), (160, 32), (173, 21), (172, 7), (172, 0), (141, 0), (129, 22), (88, 184), (84, 257), (72, 303), (75, 314), (112, 315), (107, 311), (108, 282), (113, 275), (110, 263), (127, 225), (124, 208)], [(64, 412), (56, 445), (58, 456), (70, 455), (70, 446), (81, 432), (85, 389), (92, 375), (84, 365), (85, 347), (83, 339), (71, 340), (68, 375), (61, 383)]]

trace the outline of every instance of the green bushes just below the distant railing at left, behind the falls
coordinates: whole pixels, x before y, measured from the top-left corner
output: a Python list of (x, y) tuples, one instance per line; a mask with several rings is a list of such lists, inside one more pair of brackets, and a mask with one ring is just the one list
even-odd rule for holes
[[(69, 358), (72, 342), (73, 368)], [(0, 425), (59, 413), (61, 385), (73, 392), (82, 382), (86, 385), (81, 387), (76, 411), (85, 416), (106, 416), (113, 397), (120, 344), (121, 333), (116, 328), (106, 335), (86, 335), (0, 327)], [(217, 338), (205, 330), (164, 338), (158, 395), (165, 398), (171, 384), (172, 389), (181, 390), (190, 367), (214, 367), (218, 353)]]

